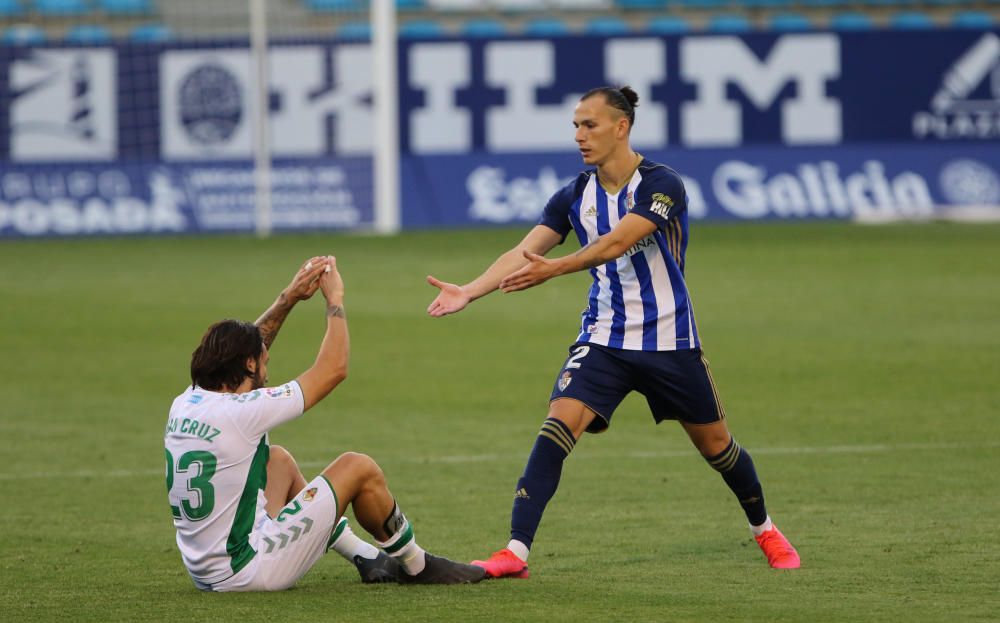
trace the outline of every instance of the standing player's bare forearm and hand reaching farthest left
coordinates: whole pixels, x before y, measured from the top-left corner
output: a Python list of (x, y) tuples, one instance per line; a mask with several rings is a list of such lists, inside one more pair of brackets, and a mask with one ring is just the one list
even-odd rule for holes
[(562, 241), (562, 236), (545, 225), (536, 225), (520, 243), (496, 259), (486, 271), (465, 284), (458, 286), (427, 277), (427, 283), (440, 292), (427, 307), (435, 318), (454, 314), (465, 309), (472, 301), (486, 296), (500, 286), (500, 280), (528, 263), (526, 254), (543, 256)]

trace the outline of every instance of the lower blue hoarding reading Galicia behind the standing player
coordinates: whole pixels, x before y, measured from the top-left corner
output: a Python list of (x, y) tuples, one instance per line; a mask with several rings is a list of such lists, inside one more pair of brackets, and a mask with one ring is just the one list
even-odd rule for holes
[[(925, 219), (942, 206), (1000, 202), (996, 145), (776, 146), (641, 152), (684, 178), (690, 215), (709, 220)], [(406, 227), (534, 222), (584, 167), (575, 154), (408, 156)], [(451, 206), (459, 202), (461, 210)]]

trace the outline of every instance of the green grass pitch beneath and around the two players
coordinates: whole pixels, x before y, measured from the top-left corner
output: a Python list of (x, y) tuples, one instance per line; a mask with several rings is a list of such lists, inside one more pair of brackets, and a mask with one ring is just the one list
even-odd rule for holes
[[(798, 571), (769, 569), (679, 426), (630, 397), (569, 458), (527, 581), (364, 586), (328, 556), (279, 594), (196, 591), (162, 433), (201, 333), (306, 257), (347, 283), (348, 381), (277, 429), (307, 476), (373, 456), (428, 550), (506, 543), (588, 277), (425, 314), (523, 230), (0, 244), (0, 619), (988, 621), (1000, 617), (1000, 227), (695, 225), (706, 355)], [(575, 250), (575, 245), (556, 254)], [(272, 382), (311, 364), (296, 309)]]

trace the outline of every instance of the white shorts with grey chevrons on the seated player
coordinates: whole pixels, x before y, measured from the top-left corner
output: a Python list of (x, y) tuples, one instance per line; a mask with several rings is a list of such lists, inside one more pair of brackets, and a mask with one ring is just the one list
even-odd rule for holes
[(264, 516), (250, 533), (257, 555), (213, 591), (280, 591), (290, 588), (326, 553), (337, 527), (337, 494), (317, 476), (278, 516)]

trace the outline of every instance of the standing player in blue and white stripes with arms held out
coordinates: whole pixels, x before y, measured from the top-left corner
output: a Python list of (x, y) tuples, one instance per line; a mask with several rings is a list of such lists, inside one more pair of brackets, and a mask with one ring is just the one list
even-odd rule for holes
[[(750, 454), (729, 434), (725, 411), (702, 355), (684, 283), (687, 195), (680, 175), (629, 145), (638, 96), (600, 87), (576, 106), (573, 125), (581, 173), (549, 199), (541, 221), (520, 244), (475, 280), (439, 288), (427, 308), (440, 317), (500, 289), (515, 292), (580, 270), (594, 279), (570, 355), (556, 377), (549, 413), (514, 493), (507, 547), (473, 561), (490, 577), (528, 577), (528, 552), (563, 461), (580, 436), (611, 424), (631, 391), (646, 397), (653, 419), (678, 420), (698, 451), (732, 489), (768, 563), (799, 566), (791, 543), (771, 522)], [(583, 247), (546, 259), (570, 231)]]

